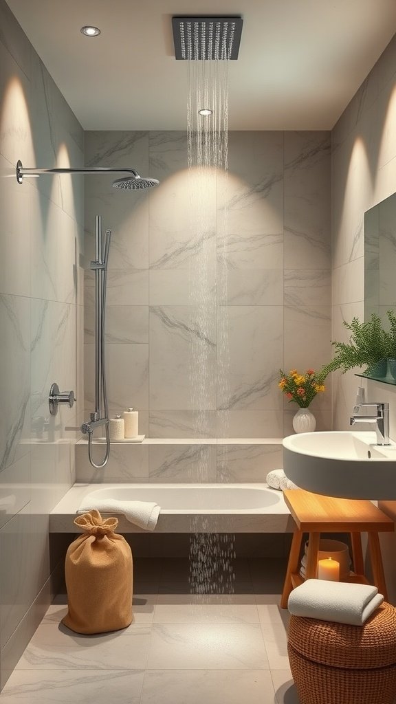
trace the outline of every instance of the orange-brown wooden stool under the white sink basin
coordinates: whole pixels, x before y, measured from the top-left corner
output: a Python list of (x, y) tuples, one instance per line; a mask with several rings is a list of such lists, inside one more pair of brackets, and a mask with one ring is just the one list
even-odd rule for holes
[(378, 587), (378, 591), (383, 594), (385, 601), (388, 601), (378, 533), (393, 531), (395, 524), (392, 519), (382, 513), (371, 501), (320, 496), (310, 494), (303, 489), (287, 489), (283, 491), (283, 496), (295, 520), (295, 532), (280, 600), (281, 608), (287, 608), (290, 592), (295, 586), (304, 582), (299, 574), (299, 553), (304, 532), (309, 533), (305, 579), (316, 577), (321, 533), (350, 533), (355, 574), (351, 574), (344, 581), (369, 584), (364, 576), (361, 550), (361, 532), (367, 532), (373, 582)]

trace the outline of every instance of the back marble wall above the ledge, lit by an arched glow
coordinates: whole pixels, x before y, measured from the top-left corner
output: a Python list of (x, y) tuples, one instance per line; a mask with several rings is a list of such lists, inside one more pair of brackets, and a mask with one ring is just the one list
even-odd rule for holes
[[(161, 181), (149, 191), (85, 188), (85, 402), (94, 400), (94, 218), (113, 230), (107, 365), (111, 414), (140, 411), (157, 438), (282, 437), (292, 415), (278, 370), (326, 363), (330, 346), (330, 134), (230, 132), (228, 180), (208, 196), (228, 227), (192, 237), (185, 132), (87, 132), (87, 165), (132, 166)], [(213, 178), (213, 177), (212, 177)], [(206, 258), (214, 307), (206, 329), (192, 297)], [(226, 286), (223, 282), (225, 268)], [(222, 337), (226, 344), (219, 344)], [(192, 346), (205, 347), (197, 393)], [(199, 382), (199, 379), (198, 379)], [(330, 427), (330, 393), (312, 404)]]

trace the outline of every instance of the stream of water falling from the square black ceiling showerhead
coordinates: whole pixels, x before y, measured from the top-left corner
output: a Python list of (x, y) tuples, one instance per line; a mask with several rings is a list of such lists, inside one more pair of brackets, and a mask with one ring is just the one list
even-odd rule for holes
[[(211, 115), (199, 115), (209, 108)], [(191, 407), (195, 438), (226, 438), (228, 410), (218, 399), (228, 394), (227, 272), (221, 249), (227, 232), (228, 61), (188, 61), (187, 155), (191, 240), (197, 256), (190, 268)], [(214, 440), (214, 442), (216, 442)], [(216, 482), (216, 453), (197, 445), (192, 481)], [(190, 591), (234, 591), (235, 535), (218, 532), (216, 516), (192, 517)]]

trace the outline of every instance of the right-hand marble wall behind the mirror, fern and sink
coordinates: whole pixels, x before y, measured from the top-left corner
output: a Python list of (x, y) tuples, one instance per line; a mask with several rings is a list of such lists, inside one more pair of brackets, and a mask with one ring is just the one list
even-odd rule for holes
[[(333, 130), (333, 339), (347, 339), (342, 320), (364, 319), (364, 213), (395, 191), (396, 37)], [(333, 377), (334, 429), (349, 428), (361, 384), (368, 401), (390, 404), (395, 440), (396, 388), (359, 379), (353, 371)], [(386, 508), (396, 518), (396, 502), (392, 504)], [(381, 536), (381, 543), (390, 600), (396, 603), (395, 536)]]

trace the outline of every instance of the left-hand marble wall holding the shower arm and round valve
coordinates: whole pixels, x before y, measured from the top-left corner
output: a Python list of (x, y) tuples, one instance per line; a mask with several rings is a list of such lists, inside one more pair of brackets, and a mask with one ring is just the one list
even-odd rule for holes
[(26, 167), (83, 165), (83, 132), (0, 0), (1, 685), (51, 601), (48, 515), (74, 482), (83, 404), (49, 416), (52, 382), (82, 401), (83, 185), (16, 182)]

